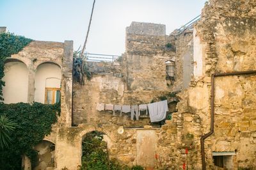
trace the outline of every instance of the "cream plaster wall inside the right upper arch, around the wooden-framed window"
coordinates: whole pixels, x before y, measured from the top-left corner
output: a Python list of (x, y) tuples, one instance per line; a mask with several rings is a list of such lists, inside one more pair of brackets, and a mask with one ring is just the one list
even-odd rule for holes
[(61, 68), (54, 63), (43, 63), (36, 69), (35, 102), (45, 102), (45, 88), (60, 88)]

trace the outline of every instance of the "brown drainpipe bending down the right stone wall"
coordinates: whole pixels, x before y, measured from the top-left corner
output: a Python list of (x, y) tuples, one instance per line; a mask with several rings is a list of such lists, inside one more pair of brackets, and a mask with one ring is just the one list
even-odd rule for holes
[(225, 77), (230, 75), (248, 75), (248, 74), (255, 74), (256, 70), (246, 71), (246, 72), (230, 72), (230, 73), (214, 73), (211, 77), (211, 130), (209, 133), (202, 135), (200, 139), (201, 144), (201, 155), (202, 155), (202, 169), (205, 170), (205, 153), (204, 153), (204, 141), (207, 137), (209, 137), (214, 132), (214, 81), (215, 77)]

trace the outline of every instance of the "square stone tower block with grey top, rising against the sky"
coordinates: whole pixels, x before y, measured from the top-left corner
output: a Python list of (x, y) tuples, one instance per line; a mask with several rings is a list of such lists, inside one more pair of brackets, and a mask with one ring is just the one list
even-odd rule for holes
[(166, 44), (174, 46), (174, 38), (165, 35), (161, 24), (132, 22), (126, 30), (127, 89), (168, 89), (165, 61), (175, 58), (175, 51)]

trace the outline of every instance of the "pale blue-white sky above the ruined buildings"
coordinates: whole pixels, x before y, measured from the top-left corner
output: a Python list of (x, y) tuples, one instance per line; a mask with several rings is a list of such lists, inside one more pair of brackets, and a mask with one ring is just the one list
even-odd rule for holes
[[(86, 51), (125, 52), (132, 21), (166, 25), (166, 35), (200, 15), (205, 0), (96, 0)], [(34, 40), (83, 45), (93, 0), (0, 0), (0, 26)]]

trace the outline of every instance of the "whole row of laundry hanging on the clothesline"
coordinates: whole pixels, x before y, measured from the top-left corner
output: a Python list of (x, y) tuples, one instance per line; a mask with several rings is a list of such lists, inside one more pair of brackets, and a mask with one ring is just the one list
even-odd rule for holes
[(146, 111), (146, 115), (150, 116), (151, 122), (161, 121), (166, 118), (166, 112), (168, 111), (167, 100), (161, 102), (154, 102), (151, 104), (140, 104), (140, 105), (114, 105), (114, 104), (99, 104), (96, 105), (97, 111), (113, 111), (115, 116), (116, 111), (120, 111), (120, 116), (122, 112), (128, 113), (131, 112), (131, 120), (139, 120), (141, 111)]

